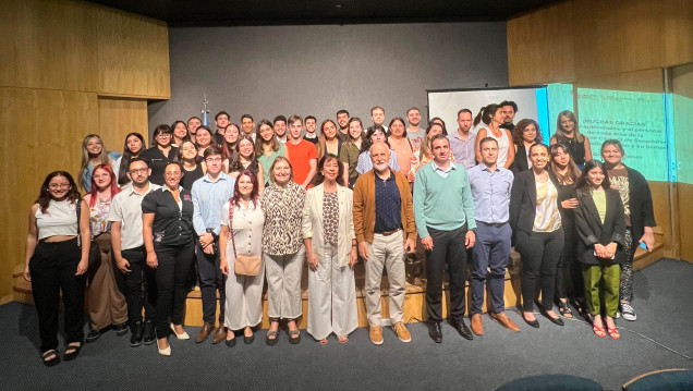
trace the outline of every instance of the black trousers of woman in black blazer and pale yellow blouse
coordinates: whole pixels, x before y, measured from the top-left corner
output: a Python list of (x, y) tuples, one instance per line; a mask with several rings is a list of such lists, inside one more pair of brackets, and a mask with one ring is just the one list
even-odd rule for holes
[[(554, 307), (556, 268), (563, 249), (563, 229), (554, 232), (524, 232), (515, 234), (515, 248), (522, 257), (522, 308), (534, 310), (537, 279), (542, 286), (542, 306)], [(540, 277), (539, 277), (540, 274)]]

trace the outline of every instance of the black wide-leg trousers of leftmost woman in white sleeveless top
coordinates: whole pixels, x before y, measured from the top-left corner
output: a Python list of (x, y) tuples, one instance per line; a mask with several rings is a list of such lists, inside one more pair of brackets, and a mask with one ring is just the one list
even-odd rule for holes
[(39, 242), (29, 259), (32, 292), (38, 313), (41, 352), (58, 347), (60, 292), (64, 305), (65, 344), (84, 339), (85, 276), (75, 276), (82, 251), (77, 240)]

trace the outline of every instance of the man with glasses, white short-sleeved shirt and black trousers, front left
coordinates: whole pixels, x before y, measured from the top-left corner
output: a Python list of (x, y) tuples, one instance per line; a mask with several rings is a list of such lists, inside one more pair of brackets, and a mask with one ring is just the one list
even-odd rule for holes
[[(161, 187), (149, 183), (151, 170), (141, 158), (130, 161), (127, 178), (131, 183), (113, 197), (108, 211), (111, 222), (111, 245), (115, 266), (122, 272), (130, 322), (130, 345), (146, 345), (156, 341), (154, 318), (156, 310), (156, 281), (147, 267), (147, 252), (142, 236), (142, 199)], [(143, 295), (144, 285), (144, 295)], [(144, 300), (143, 300), (144, 298)], [(145, 309), (144, 323), (142, 309)]]

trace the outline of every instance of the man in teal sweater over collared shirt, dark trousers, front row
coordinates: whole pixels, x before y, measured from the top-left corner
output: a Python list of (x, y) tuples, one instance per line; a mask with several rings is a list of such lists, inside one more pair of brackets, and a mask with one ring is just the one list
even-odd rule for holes
[(450, 161), (450, 142), (442, 135), (431, 140), (434, 160), (416, 172), (414, 218), (426, 251), (426, 311), (428, 334), (442, 342), (442, 276), (450, 273), (450, 317), (460, 335), (471, 340), (464, 323), (466, 248), (474, 246), (474, 201), (463, 167)]

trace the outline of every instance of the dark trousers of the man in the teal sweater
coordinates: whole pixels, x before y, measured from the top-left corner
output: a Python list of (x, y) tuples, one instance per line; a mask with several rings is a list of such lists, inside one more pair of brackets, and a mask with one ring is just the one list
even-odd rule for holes
[(452, 231), (428, 227), (434, 248), (426, 251), (426, 311), (429, 321), (442, 321), (442, 277), (446, 265), (450, 274), (450, 317), (464, 318), (464, 285), (466, 282), (466, 224)]

